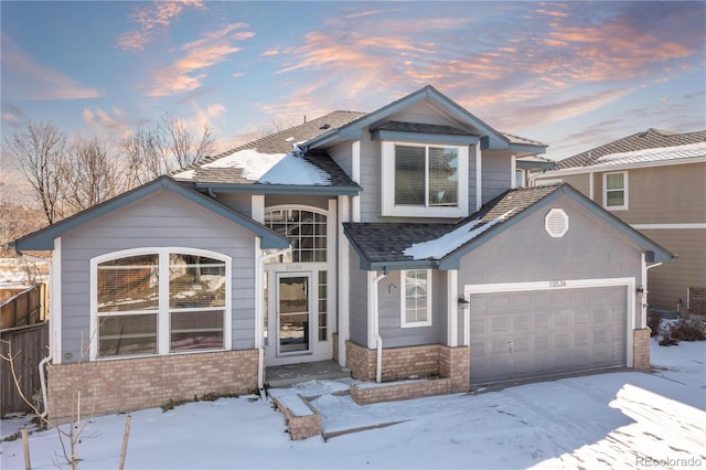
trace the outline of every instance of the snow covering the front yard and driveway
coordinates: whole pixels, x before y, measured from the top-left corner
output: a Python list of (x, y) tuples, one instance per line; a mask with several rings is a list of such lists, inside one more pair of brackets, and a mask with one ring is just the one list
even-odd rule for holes
[[(653, 374), (610, 372), (356, 406), (322, 395), (324, 430), (403, 421), (381, 429), (291, 441), (282, 415), (255, 397), (132, 414), (130, 469), (515, 469), (706, 468), (706, 342), (652, 342)], [(340, 384), (309, 383), (335, 391)], [(125, 415), (90, 420), (82, 469), (115, 469)], [(4, 419), (1, 434), (25, 419)], [(32, 468), (56, 468), (55, 430), (30, 436)], [(21, 440), (2, 442), (0, 467), (22, 469)]]

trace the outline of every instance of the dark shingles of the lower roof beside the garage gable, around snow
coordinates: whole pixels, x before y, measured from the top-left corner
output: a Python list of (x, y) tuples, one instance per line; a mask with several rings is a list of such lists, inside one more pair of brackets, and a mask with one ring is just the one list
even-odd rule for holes
[[(475, 214), (456, 223), (344, 223), (346, 236), (356, 250), (371, 263), (414, 261), (415, 257), (405, 254), (413, 245), (437, 241), (453, 231), (469, 227), (472, 242), (482, 227), (488, 224), (502, 225), (514, 216), (555, 192), (561, 185), (546, 185), (510, 190), (485, 204)], [(490, 227), (488, 227), (490, 228)], [(471, 233), (473, 232), (473, 233)], [(453, 253), (459, 247), (447, 246), (448, 250), (438, 260)]]

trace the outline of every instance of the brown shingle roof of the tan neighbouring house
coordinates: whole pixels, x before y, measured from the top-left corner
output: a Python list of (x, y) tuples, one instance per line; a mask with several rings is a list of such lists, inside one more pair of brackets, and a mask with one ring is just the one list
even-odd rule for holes
[(576, 167), (591, 167), (600, 163), (601, 157), (632, 152), (637, 150), (656, 149), (665, 147), (685, 146), (706, 141), (706, 130), (694, 132), (676, 133), (660, 129), (648, 129), (643, 132), (614, 140), (612, 142), (596, 147), (576, 156), (560, 160), (556, 164), (557, 170)]

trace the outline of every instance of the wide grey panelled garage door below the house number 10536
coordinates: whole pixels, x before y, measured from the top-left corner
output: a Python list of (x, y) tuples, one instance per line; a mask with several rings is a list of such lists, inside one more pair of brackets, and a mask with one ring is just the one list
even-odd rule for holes
[(624, 286), (471, 295), (471, 384), (624, 366)]

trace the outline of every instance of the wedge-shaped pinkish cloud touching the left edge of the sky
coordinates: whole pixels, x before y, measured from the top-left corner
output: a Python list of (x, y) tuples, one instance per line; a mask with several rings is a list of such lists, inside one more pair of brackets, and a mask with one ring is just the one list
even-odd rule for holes
[(97, 98), (103, 92), (30, 57), (8, 35), (1, 34), (2, 94), (14, 99)]

